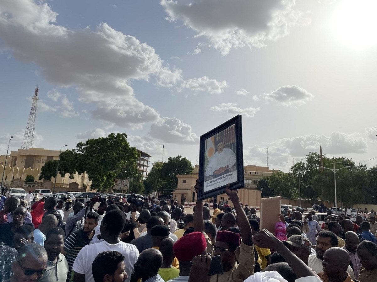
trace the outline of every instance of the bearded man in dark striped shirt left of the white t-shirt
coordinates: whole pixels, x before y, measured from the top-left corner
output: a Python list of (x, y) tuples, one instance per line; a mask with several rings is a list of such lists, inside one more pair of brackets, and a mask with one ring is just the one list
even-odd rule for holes
[(66, 256), (68, 262), (67, 280), (70, 280), (72, 273), (72, 266), (77, 257), (78, 252), (89, 244), (94, 236), (94, 229), (98, 225), (100, 215), (97, 212), (89, 212), (86, 215), (84, 225), (82, 228), (70, 233), (64, 241), (63, 251), (61, 252)]

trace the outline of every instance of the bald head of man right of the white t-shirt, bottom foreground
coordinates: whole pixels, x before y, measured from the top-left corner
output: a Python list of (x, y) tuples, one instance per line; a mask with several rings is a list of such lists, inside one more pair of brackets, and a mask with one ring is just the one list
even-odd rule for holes
[(133, 265), (133, 274), (136, 278), (141, 278), (142, 282), (164, 282), (164, 279), (158, 274), (161, 265), (161, 252), (149, 248), (140, 253), (138, 260)]

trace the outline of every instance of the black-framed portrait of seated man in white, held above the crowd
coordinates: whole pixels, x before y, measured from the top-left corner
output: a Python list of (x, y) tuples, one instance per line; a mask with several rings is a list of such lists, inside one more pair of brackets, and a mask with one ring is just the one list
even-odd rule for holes
[(231, 189), (244, 187), (241, 115), (224, 122), (200, 137), (199, 180), (204, 200)]

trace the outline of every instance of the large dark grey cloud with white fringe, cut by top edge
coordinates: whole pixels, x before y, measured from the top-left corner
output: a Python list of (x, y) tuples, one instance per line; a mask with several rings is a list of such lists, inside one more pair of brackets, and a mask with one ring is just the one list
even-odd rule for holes
[(160, 4), (168, 21), (182, 21), (222, 55), (232, 48), (266, 46), (287, 36), (293, 26), (310, 23), (294, 8), (294, 0), (161, 0)]

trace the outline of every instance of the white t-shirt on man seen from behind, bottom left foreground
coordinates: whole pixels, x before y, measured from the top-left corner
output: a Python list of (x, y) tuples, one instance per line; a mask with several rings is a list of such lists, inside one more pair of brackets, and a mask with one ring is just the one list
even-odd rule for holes
[(111, 245), (106, 241), (86, 245), (78, 253), (72, 269), (80, 274), (85, 274), (85, 282), (94, 282), (92, 274), (92, 263), (99, 253), (106, 251), (118, 251), (124, 256), (124, 265), (128, 278), (127, 282), (131, 279), (133, 273), (133, 265), (138, 260), (139, 251), (135, 245), (119, 242)]

